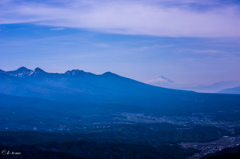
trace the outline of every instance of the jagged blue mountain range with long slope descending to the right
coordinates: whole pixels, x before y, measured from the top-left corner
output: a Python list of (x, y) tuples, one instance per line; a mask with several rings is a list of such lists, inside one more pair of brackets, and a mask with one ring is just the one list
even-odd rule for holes
[(30, 70), (26, 67), (1, 70), (0, 93), (67, 103), (110, 103), (182, 111), (240, 104), (238, 95), (168, 89), (111, 72), (96, 75), (78, 69), (65, 73), (48, 73), (40, 68)]

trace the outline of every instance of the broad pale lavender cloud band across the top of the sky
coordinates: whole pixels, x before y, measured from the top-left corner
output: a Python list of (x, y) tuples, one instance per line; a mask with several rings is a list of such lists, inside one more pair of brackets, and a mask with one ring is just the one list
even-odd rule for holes
[(222, 4), (217, 0), (47, 2), (5, 0), (0, 7), (0, 24), (34, 23), (105, 33), (170, 37), (240, 36), (237, 3)]

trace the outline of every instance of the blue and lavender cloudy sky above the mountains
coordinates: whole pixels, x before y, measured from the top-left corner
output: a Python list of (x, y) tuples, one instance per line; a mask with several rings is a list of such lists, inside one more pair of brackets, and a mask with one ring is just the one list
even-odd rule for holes
[(0, 69), (240, 80), (239, 0), (1, 0)]

